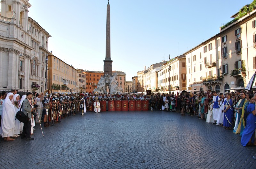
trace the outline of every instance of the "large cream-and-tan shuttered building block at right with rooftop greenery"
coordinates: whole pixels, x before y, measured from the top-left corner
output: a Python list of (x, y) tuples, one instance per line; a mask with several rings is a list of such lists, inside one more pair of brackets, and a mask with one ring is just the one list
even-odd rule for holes
[(255, 12), (221, 27), (220, 33), (184, 53), (188, 90), (224, 93), (247, 85), (256, 68)]

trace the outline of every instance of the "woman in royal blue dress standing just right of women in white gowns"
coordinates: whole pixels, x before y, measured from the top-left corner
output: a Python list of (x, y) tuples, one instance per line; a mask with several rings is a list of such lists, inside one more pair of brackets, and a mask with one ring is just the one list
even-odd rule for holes
[(224, 101), (224, 119), (223, 119), (223, 126), (225, 129), (232, 129), (232, 122), (233, 122), (233, 103), (232, 99), (230, 99), (230, 93), (226, 94), (227, 100)]

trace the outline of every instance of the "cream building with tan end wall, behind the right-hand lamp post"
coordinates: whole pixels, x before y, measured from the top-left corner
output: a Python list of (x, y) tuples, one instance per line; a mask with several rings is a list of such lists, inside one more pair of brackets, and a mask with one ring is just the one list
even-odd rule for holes
[(186, 90), (186, 56), (180, 55), (170, 59), (158, 74), (158, 88), (160, 92), (171, 93), (177, 90)]

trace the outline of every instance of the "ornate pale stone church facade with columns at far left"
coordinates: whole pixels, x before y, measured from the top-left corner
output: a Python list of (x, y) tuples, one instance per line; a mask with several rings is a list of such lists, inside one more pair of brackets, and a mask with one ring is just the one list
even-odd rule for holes
[(1, 0), (0, 90), (43, 92), (51, 35), (28, 17), (29, 0)]

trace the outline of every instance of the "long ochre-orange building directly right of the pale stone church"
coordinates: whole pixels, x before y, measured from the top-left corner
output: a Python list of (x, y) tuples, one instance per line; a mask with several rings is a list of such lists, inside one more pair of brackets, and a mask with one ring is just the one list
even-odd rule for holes
[(52, 92), (78, 92), (77, 70), (51, 53), (48, 54), (47, 86)]

